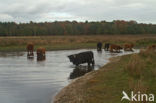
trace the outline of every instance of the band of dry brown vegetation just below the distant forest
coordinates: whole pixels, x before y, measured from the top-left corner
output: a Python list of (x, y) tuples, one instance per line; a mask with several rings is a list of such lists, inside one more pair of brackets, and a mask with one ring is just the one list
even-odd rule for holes
[(27, 45), (32, 42), (35, 45), (68, 44), (68, 43), (127, 43), (156, 40), (154, 35), (91, 35), (91, 36), (28, 36), (28, 37), (0, 37), (0, 46)]

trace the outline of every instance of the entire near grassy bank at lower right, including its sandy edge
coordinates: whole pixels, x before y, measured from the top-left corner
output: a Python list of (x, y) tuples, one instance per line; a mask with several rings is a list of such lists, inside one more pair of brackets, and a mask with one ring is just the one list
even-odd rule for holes
[[(56, 96), (54, 103), (121, 103), (123, 90), (129, 95), (130, 91), (156, 94), (155, 61), (154, 51), (112, 58), (100, 70), (91, 72), (64, 88)], [(122, 103), (129, 101), (123, 100)]]

